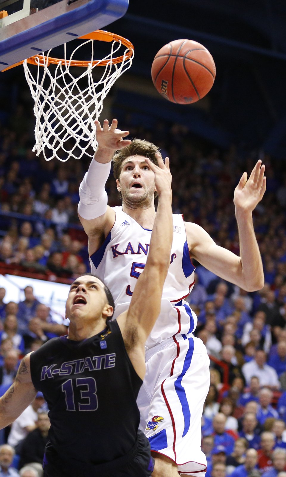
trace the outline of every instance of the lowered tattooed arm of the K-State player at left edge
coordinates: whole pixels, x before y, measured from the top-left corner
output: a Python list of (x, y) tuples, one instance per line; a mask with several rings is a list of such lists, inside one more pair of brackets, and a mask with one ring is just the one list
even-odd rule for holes
[(15, 382), (0, 397), (0, 429), (11, 424), (31, 404), (37, 391), (31, 380), (30, 354), (22, 359)]

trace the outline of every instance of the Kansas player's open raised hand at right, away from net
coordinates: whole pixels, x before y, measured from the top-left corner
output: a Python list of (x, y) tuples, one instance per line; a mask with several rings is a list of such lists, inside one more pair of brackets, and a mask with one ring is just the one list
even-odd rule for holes
[(266, 191), (266, 177), (264, 176), (265, 165), (261, 160), (256, 162), (247, 180), (247, 173), (244, 172), (234, 192), (234, 205), (236, 213), (252, 212)]

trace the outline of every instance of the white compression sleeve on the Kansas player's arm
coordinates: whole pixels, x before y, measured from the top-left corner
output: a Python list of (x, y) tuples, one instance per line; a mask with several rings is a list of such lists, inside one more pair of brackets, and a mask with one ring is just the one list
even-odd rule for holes
[(100, 217), (107, 211), (107, 193), (104, 187), (110, 168), (111, 162), (101, 164), (92, 159), (89, 170), (79, 186), (78, 212), (80, 217), (91, 220)]

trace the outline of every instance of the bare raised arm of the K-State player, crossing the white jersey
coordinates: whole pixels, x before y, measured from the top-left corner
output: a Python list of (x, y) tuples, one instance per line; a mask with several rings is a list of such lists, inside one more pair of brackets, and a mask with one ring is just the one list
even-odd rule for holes
[[(170, 264), (173, 240), (172, 177), (169, 160), (166, 157), (164, 164), (160, 153), (156, 156), (158, 166), (146, 159), (147, 165), (155, 174), (155, 187), (158, 192), (158, 208), (151, 234), (148, 259), (134, 288), (128, 311), (118, 317), (129, 357), (141, 376), (145, 373), (144, 346), (160, 312), (162, 290)], [(136, 353), (139, 350), (143, 356), (141, 362), (143, 367), (140, 368), (139, 365), (139, 369), (134, 361), (135, 349)]]

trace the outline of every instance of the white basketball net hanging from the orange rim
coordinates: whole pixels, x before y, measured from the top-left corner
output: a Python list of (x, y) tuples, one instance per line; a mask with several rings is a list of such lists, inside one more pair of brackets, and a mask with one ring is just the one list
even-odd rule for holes
[[(121, 41), (113, 41), (111, 52), (92, 65), (95, 61), (94, 41), (85, 40), (80, 43), (69, 59), (66, 58), (65, 44), (64, 60), (53, 69), (48, 67), (51, 50), (46, 57), (44, 53), (38, 55), (37, 66), (29, 64), (27, 60), (23, 63), (26, 80), (35, 101), (36, 144), (33, 151), (37, 151), (37, 156), (42, 153), (46, 161), (53, 157), (65, 162), (69, 157), (80, 159), (83, 155), (93, 156), (97, 147), (94, 121), (99, 118), (103, 100), (113, 83), (131, 66), (134, 51), (128, 58), (128, 48), (122, 53), (122, 62), (113, 64), (111, 61), (116, 57)], [(87, 44), (91, 47), (88, 67), (71, 66), (70, 61), (75, 53), (78, 54), (79, 49)], [(103, 60), (108, 60), (107, 65), (98, 67)], [(39, 62), (43, 62), (44, 66), (40, 66)], [(92, 73), (96, 67), (102, 75), (95, 82)], [(72, 73), (79, 73), (79, 70), (79, 76), (74, 77)], [(92, 154), (87, 151), (89, 147), (93, 149)]]

